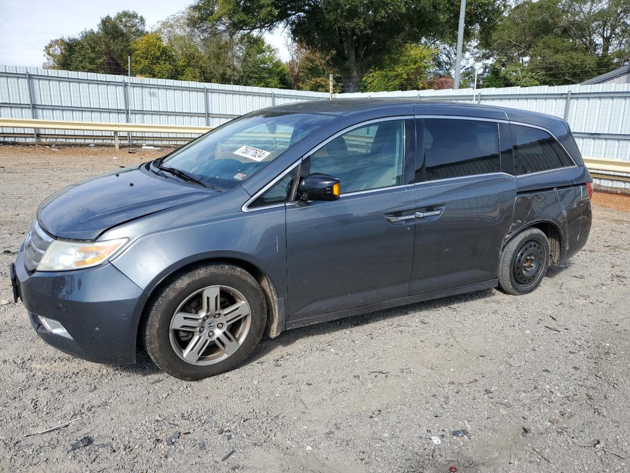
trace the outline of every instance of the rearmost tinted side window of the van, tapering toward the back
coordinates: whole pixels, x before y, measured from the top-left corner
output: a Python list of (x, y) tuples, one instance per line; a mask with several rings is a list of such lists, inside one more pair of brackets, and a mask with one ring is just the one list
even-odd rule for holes
[(573, 165), (564, 149), (547, 132), (512, 125), (514, 173), (529, 174)]

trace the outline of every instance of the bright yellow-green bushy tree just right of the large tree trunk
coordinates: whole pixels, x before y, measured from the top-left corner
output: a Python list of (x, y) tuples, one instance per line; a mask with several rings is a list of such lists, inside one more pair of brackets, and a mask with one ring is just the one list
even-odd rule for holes
[(381, 67), (372, 67), (363, 78), (362, 90), (421, 90), (427, 88), (435, 50), (406, 44), (388, 55)]

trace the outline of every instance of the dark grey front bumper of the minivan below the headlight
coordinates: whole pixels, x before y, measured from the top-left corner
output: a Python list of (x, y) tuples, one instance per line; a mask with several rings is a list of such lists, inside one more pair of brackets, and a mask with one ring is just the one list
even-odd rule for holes
[[(15, 262), (14, 289), (45, 342), (96, 363), (135, 362), (137, 327), (147, 299), (142, 289), (109, 263), (28, 274), (22, 258), (20, 253)], [(59, 321), (72, 338), (50, 333), (40, 315)]]

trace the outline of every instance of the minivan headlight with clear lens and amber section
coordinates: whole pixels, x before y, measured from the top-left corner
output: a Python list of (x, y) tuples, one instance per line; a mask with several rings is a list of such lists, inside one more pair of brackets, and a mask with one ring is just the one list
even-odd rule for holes
[(67, 271), (96, 266), (105, 262), (128, 241), (129, 238), (105, 242), (53, 240), (37, 265), (37, 271)]

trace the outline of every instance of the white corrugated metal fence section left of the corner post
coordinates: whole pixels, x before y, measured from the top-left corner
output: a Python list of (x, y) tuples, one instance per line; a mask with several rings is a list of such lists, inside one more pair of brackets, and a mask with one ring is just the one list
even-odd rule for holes
[[(259, 108), (321, 98), (328, 94), (0, 66), (0, 117), (212, 127)], [(68, 141), (98, 142), (95, 137), (104, 132), (37, 130), (37, 134), (41, 141), (59, 141), (59, 135), (66, 135)], [(0, 136), (34, 139), (23, 129), (4, 128)], [(143, 141), (186, 139), (181, 135), (147, 138)]]

